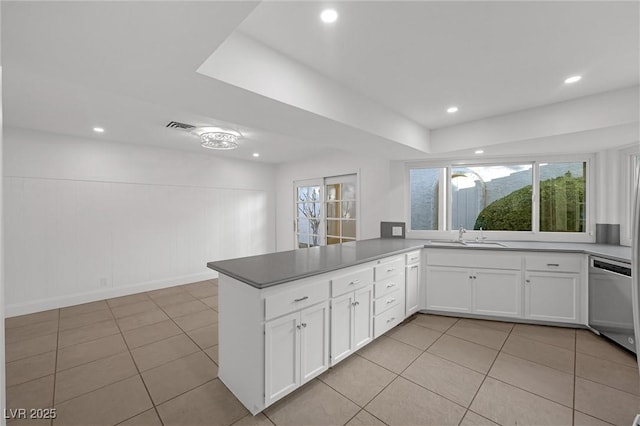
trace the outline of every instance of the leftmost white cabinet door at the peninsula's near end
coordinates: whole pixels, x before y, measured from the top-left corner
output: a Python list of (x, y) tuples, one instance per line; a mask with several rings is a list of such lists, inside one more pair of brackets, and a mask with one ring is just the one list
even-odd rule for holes
[(299, 313), (265, 324), (265, 403), (280, 399), (300, 384)]

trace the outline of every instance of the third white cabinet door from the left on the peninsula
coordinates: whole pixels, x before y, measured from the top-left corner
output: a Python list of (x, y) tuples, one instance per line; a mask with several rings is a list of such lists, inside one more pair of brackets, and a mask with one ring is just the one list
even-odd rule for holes
[(331, 365), (335, 365), (351, 353), (353, 348), (354, 293), (345, 294), (331, 301)]

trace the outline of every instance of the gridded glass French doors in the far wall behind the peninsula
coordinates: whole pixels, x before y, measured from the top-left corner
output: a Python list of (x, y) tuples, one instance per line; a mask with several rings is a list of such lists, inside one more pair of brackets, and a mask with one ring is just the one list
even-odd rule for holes
[(355, 241), (357, 175), (295, 182), (295, 246)]

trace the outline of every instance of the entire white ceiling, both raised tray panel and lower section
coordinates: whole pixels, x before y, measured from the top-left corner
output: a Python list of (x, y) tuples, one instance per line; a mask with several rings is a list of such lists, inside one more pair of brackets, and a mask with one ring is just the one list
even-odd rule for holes
[[(257, 151), (252, 161), (272, 163), (363, 146), (424, 155), (377, 128), (196, 73), (238, 34), (431, 129), (639, 82), (637, 2), (340, 2), (332, 27), (318, 20), (325, 4), (3, 1), (4, 124), (234, 158)], [(572, 74), (583, 81), (563, 85)], [(246, 139), (204, 150), (166, 129), (171, 120)]]

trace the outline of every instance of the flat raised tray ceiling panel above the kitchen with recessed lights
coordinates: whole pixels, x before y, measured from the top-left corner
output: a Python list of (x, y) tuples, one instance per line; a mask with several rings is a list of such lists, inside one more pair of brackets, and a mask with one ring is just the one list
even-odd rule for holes
[(638, 84), (638, 2), (345, 2), (331, 26), (324, 5), (262, 3), (239, 30), (428, 128)]

